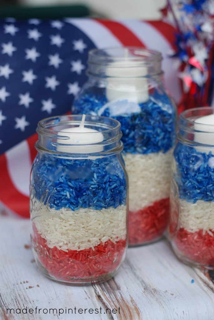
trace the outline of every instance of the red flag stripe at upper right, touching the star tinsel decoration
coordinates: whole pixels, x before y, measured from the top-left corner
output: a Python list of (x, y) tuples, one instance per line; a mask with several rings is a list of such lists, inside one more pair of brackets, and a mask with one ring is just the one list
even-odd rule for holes
[(176, 32), (178, 33), (178, 31), (173, 26), (171, 26), (170, 24), (164, 21), (146, 21), (146, 22), (151, 26), (153, 26), (155, 29), (157, 29), (163, 35), (163, 37), (169, 41), (171, 46), (175, 50), (177, 50), (177, 46), (175, 44), (175, 41), (176, 41), (175, 34)]

